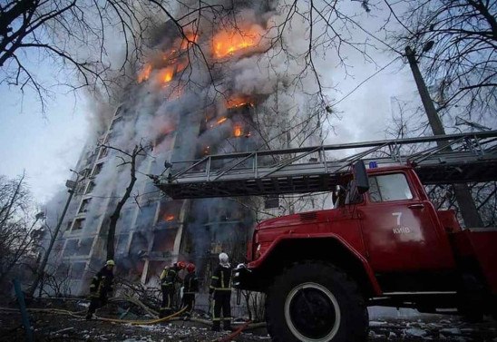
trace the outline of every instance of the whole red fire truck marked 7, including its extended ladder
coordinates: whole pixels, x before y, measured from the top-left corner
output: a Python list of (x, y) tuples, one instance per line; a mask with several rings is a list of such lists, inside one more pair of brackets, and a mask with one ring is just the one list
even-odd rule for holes
[[(497, 230), (462, 229), (454, 211), (435, 209), (424, 188), (497, 180), (496, 137), (484, 132), (210, 156), (157, 184), (173, 198), (333, 191), (331, 209), (259, 223), (235, 285), (266, 293), (274, 341), (361, 341), (368, 306), (455, 308), (470, 319), (496, 314)], [(410, 156), (399, 148), (430, 142), (438, 144)], [(351, 148), (367, 150), (326, 160), (326, 152)], [(289, 156), (260, 165), (275, 153)], [(311, 155), (317, 158), (309, 162)], [(222, 167), (214, 170), (216, 162)]]

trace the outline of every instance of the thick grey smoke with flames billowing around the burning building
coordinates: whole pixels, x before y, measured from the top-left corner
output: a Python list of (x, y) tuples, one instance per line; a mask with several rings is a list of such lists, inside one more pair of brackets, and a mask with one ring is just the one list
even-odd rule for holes
[[(94, 136), (99, 142), (128, 152), (137, 144), (153, 146), (138, 159), (136, 197), (123, 208), (116, 231), (117, 258), (127, 249), (141, 257), (141, 248), (148, 248), (154, 229), (163, 224), (154, 210), (161, 194), (146, 175), (161, 173), (164, 161), (315, 145), (324, 139), (316, 75), (303, 73), (302, 60), (292, 57), (306, 52), (305, 24), (293, 19), (291, 36), (285, 33), (278, 44), (272, 44), (278, 34), (275, 28), (286, 20), (278, 15), (277, 5), (236, 3), (242, 10), (217, 24), (213, 24), (218, 20), (214, 15), (206, 14), (198, 30), (185, 29), (186, 37), (171, 22), (151, 29), (146, 35), (154, 37), (156, 44), (137, 68), (136, 80), (114, 89), (114, 99), (96, 99)], [(182, 9), (178, 11), (180, 16)], [(109, 125), (112, 130), (105, 133)], [(102, 150), (96, 151), (98, 158)], [(83, 234), (108, 225), (110, 213), (130, 182), (129, 166), (122, 165), (119, 157), (126, 159), (110, 150), (98, 174), (93, 168), (95, 187)], [(160, 207), (171, 207), (174, 220), (179, 220), (180, 210), (172, 202), (162, 199)], [(185, 204), (182, 210), (188, 207)], [(245, 240), (246, 236), (235, 237), (232, 230), (238, 227), (247, 232), (254, 220), (250, 210), (233, 200), (193, 201), (183, 217), (192, 241), (192, 258), (201, 263), (210, 254), (210, 241), (224, 246), (233, 244), (233, 239)], [(131, 227), (140, 234), (129, 234)], [(133, 248), (133, 243), (141, 247)], [(103, 247), (101, 237), (93, 242), (93, 246), (98, 244)], [(236, 258), (243, 261), (239, 255)], [(102, 257), (95, 260), (102, 261)]]

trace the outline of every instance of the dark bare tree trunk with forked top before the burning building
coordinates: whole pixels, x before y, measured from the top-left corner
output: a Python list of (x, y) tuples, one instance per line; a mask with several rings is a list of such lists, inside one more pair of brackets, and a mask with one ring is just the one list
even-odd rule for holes
[(107, 259), (114, 259), (115, 230), (117, 221), (121, 215), (122, 207), (132, 195), (132, 190), (137, 180), (136, 172), (138, 159), (147, 155), (147, 151), (150, 151), (151, 145), (142, 145), (139, 143), (134, 146), (132, 151), (124, 151), (120, 148), (107, 144), (100, 144), (100, 146), (118, 152), (117, 158), (122, 162), (117, 167), (129, 165), (130, 168), (130, 182), (128, 183), (126, 191), (124, 191), (121, 199), (117, 202), (115, 209), (112, 211), (109, 221), (109, 230), (107, 232)]

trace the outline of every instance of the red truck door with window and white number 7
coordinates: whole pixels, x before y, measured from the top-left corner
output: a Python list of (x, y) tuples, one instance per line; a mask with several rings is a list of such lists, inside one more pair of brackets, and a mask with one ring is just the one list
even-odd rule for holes
[(406, 176), (402, 171), (369, 176), (365, 204), (357, 207), (366, 256), (375, 272), (450, 267), (450, 246), (439, 236), (434, 206), (420, 200)]

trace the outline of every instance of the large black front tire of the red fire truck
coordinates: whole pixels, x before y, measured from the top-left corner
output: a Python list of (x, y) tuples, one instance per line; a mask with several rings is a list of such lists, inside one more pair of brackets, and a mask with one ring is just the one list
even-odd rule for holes
[(293, 264), (268, 288), (266, 322), (277, 342), (365, 341), (368, 315), (356, 282), (331, 264)]

